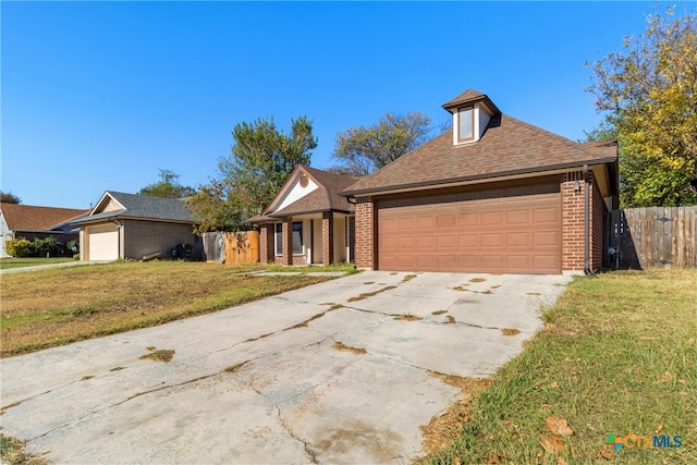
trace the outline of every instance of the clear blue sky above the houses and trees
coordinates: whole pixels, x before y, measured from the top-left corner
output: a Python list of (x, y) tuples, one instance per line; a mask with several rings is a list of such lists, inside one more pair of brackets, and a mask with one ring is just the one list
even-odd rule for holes
[[(314, 120), (313, 167), (337, 133), (467, 88), (571, 139), (601, 117), (595, 62), (646, 29), (659, 2), (0, 3), (1, 188), (88, 208), (160, 169), (198, 186), (236, 123)], [(676, 2), (678, 14), (697, 2)]]

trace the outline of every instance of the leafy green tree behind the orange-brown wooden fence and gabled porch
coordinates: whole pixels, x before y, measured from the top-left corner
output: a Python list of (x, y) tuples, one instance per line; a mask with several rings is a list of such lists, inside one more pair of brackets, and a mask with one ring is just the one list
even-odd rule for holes
[(310, 163), (317, 147), (313, 122), (291, 119), (284, 134), (273, 119), (240, 123), (232, 130), (231, 157), (218, 162), (218, 176), (187, 201), (198, 232), (239, 231), (260, 213), (298, 164)]

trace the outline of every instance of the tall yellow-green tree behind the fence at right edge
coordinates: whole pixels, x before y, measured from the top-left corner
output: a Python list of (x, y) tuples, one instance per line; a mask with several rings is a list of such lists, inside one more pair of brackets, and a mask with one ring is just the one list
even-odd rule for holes
[(588, 136), (619, 139), (623, 206), (697, 205), (697, 15), (649, 16), (594, 71), (608, 113)]

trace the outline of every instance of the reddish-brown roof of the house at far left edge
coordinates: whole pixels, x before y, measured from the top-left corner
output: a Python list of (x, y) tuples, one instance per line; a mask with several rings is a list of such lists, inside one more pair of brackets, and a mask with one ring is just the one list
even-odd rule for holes
[(10, 231), (50, 231), (89, 210), (37, 207), (22, 204), (0, 204), (0, 211)]

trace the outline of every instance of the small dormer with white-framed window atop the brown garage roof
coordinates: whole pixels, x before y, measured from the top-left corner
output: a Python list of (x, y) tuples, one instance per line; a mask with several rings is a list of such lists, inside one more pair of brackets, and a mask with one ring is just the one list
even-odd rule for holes
[(481, 138), (489, 121), (501, 111), (480, 91), (468, 89), (443, 108), (453, 115), (453, 145), (473, 144)]

